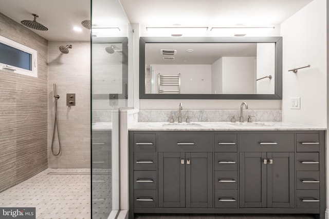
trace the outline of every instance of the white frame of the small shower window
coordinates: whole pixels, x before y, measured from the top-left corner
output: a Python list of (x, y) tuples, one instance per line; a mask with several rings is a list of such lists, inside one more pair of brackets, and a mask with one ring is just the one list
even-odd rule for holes
[[(0, 43), (5, 44), (9, 47), (18, 49), (20, 51), (29, 53), (31, 55), (31, 70), (27, 70), (27, 69), (23, 69), (23, 68), (19, 68), (16, 66), (10, 66), (6, 63), (0, 63), (0, 70), (8, 70), (8, 71), (12, 71), (13, 73), (17, 73), (17, 74), (23, 74), (23, 75), (27, 75), (27, 76), (32, 76), (32, 77), (38, 77), (38, 51), (27, 47), (23, 44), (17, 43), (15, 41), (12, 41), (9, 38), (6, 38), (2, 35), (0, 35)], [(7, 71), (7, 72), (8, 72)]]

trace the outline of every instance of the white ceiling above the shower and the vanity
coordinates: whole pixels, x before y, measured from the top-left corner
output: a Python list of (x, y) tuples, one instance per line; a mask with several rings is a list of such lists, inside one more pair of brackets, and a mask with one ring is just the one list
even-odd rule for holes
[[(150, 26), (276, 25), (312, 0), (120, 0), (132, 24)], [(93, 0), (94, 25), (126, 22), (119, 0)], [(90, 0), (0, 0), (0, 12), (21, 22), (36, 19), (48, 31), (33, 30), (49, 41), (89, 41), (89, 30), (74, 32), (90, 19)]]

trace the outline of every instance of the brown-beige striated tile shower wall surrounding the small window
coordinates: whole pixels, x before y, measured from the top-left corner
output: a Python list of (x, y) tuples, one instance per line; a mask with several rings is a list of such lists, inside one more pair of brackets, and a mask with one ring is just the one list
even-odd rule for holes
[(0, 192), (47, 168), (48, 41), (0, 13), (0, 35), (38, 51), (38, 77), (0, 71)]

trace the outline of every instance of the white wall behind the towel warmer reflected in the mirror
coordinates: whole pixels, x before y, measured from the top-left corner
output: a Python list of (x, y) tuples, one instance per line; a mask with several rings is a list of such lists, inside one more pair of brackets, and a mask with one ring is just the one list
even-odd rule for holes
[[(151, 65), (154, 78), (161, 75), (180, 73), (180, 93), (211, 93), (211, 65)], [(158, 90), (154, 83), (155, 91)], [(168, 86), (167, 90), (176, 90), (177, 86)], [(152, 89), (153, 90), (153, 89)]]

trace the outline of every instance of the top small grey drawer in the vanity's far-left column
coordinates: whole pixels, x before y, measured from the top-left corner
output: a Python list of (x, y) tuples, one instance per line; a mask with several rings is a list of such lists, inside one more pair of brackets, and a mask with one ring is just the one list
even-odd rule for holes
[(156, 134), (134, 134), (135, 152), (155, 152)]

